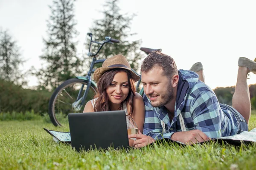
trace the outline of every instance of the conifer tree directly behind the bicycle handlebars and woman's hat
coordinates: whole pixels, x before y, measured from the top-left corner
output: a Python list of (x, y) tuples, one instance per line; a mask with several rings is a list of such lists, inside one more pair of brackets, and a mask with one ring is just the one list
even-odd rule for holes
[[(116, 54), (124, 55), (130, 62), (131, 68), (137, 70), (140, 67), (140, 54), (139, 48), (141, 40), (129, 42), (127, 39), (135, 35), (130, 33), (131, 21), (134, 14), (130, 17), (128, 14), (121, 14), (120, 8), (117, 6), (118, 0), (107, 0), (102, 11), (104, 18), (95, 20), (93, 28), (90, 32), (96, 41), (104, 40), (105, 36), (120, 40), (119, 44), (106, 44), (99, 55), (99, 57), (107, 58)], [(87, 47), (89, 43), (87, 43)], [(93, 46), (92, 51), (96, 51), (99, 46)]]

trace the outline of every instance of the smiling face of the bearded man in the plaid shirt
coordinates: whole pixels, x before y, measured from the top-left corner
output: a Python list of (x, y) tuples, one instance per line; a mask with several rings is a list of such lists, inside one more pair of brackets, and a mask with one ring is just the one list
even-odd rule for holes
[(163, 69), (156, 66), (147, 73), (141, 73), (144, 93), (153, 107), (161, 107), (174, 99), (171, 79), (163, 75)]

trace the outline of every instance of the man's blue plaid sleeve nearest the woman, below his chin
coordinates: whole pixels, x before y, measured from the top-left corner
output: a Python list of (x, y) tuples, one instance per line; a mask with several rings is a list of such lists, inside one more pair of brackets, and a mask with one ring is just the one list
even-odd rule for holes
[(160, 119), (157, 116), (156, 111), (153, 109), (153, 106), (148, 101), (148, 98), (143, 96), (145, 104), (145, 122), (143, 127), (143, 134), (151, 136), (155, 140), (169, 138), (171, 139), (172, 133), (162, 133), (163, 127), (161, 125)]

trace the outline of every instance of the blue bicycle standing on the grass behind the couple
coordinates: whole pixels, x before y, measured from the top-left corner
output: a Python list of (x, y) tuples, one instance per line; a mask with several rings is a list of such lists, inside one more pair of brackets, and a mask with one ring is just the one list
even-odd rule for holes
[[(110, 36), (106, 36), (102, 42), (93, 41), (93, 34), (87, 34), (90, 37), (88, 57), (93, 57), (90, 64), (90, 69), (85, 76), (77, 76), (76, 78), (68, 79), (64, 81), (53, 92), (48, 106), (48, 113), (51, 122), (55, 126), (62, 126), (63, 122), (67, 122), (67, 119), (63, 119), (68, 113), (81, 113), (85, 104), (93, 99), (93, 96), (97, 92), (97, 85), (91, 78), (91, 74), (95, 71), (93, 68), (95, 64), (103, 63), (105, 59), (97, 59), (99, 51), (106, 43), (119, 43), (119, 40), (112, 39)], [(93, 43), (99, 44), (100, 47), (96, 53), (90, 52), (91, 45)], [(147, 55), (152, 51), (162, 51), (162, 49), (140, 48)], [(134, 69), (134, 73), (141, 77)], [(139, 88), (141, 79), (137, 82), (136, 91)], [(140, 89), (140, 95), (143, 95), (143, 88)]]

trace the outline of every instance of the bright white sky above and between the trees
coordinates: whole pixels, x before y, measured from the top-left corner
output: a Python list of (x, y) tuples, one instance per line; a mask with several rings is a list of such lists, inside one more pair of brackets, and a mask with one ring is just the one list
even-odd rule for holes
[[(77, 0), (75, 3), (78, 53), (93, 20), (102, 15), (105, 0)], [(52, 0), (0, 0), (0, 27), (17, 40), (22, 57), (41, 68), (43, 37), (47, 37)], [(211, 88), (236, 85), (239, 57), (256, 57), (256, 1), (247, 0), (120, 0), (122, 12), (137, 14), (131, 32), (142, 47), (162, 48), (175, 59), (177, 67), (189, 69), (195, 62), (204, 65)], [(87, 49), (84, 49), (87, 51)], [(250, 73), (248, 84), (256, 83)], [(29, 85), (37, 85), (35, 77)]]

